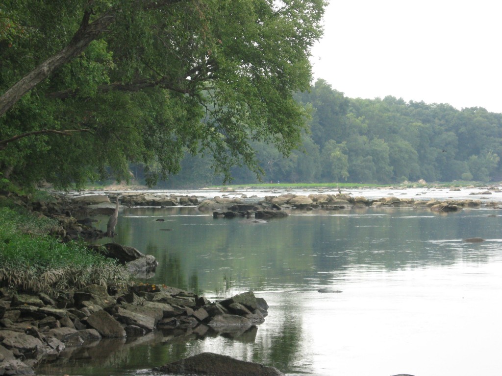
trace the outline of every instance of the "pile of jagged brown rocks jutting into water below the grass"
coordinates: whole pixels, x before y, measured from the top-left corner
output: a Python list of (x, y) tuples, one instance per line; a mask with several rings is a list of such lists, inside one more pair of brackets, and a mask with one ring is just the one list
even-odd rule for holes
[(45, 294), (13, 296), (0, 288), (0, 375), (34, 374), (32, 367), (45, 355), (101, 338), (130, 340), (157, 330), (238, 336), (256, 329), (268, 309), (253, 292), (211, 303), (151, 284), (131, 286), (125, 294), (109, 295), (112, 290), (91, 285), (56, 302)]

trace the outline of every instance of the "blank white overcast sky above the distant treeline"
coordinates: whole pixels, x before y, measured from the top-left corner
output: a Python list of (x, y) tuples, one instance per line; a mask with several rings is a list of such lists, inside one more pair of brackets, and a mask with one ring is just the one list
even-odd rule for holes
[(331, 0), (314, 80), (350, 98), (502, 112), (502, 2)]

